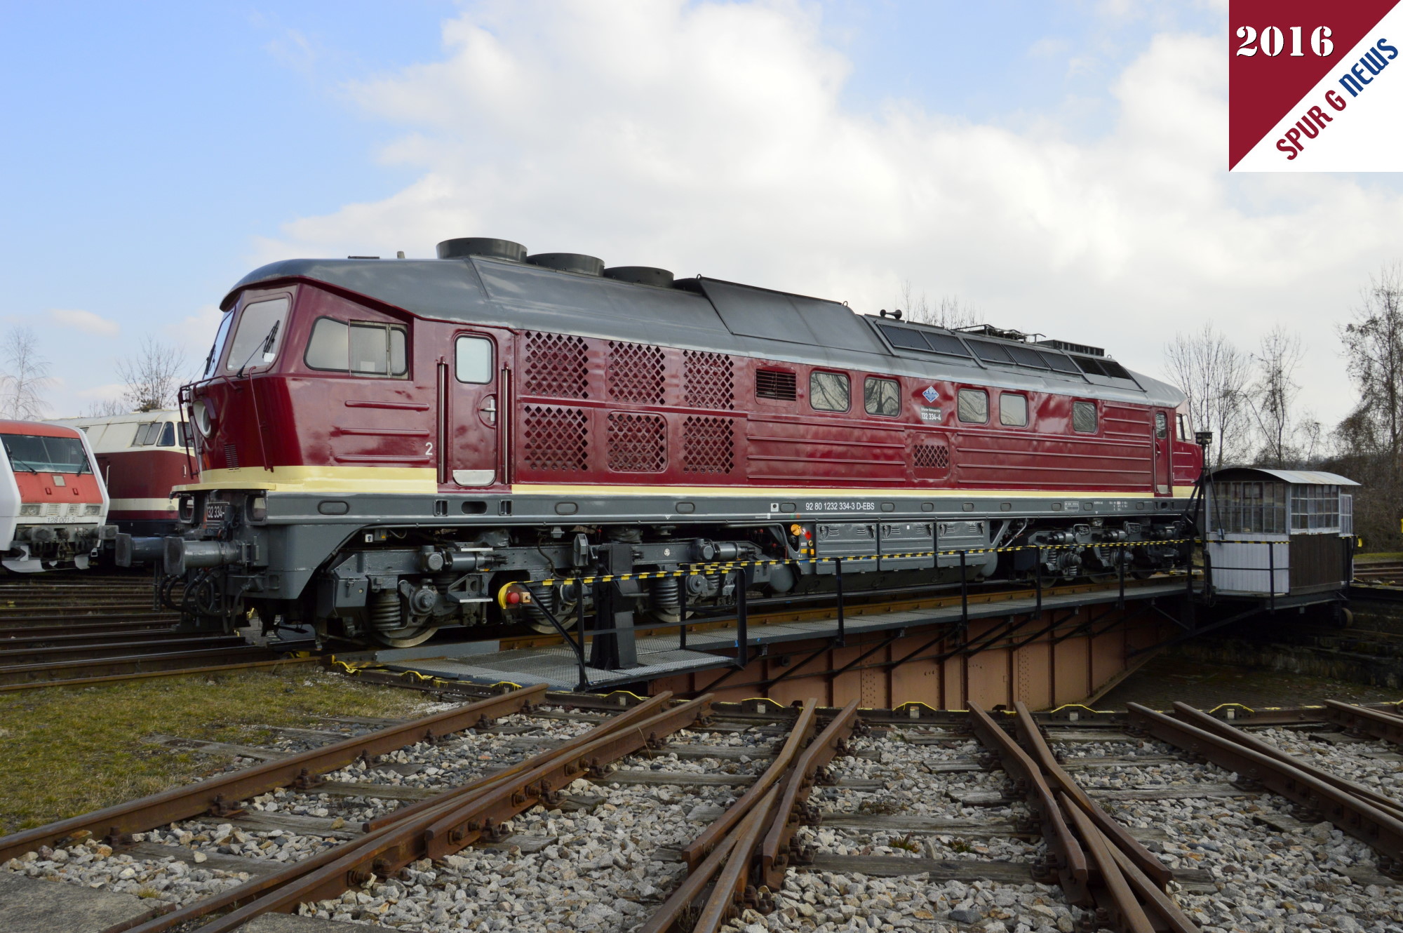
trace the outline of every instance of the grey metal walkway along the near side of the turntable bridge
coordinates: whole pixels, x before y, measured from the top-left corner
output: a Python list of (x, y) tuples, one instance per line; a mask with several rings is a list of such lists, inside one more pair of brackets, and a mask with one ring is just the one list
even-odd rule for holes
[[(1149, 581), (1143, 584), (1127, 584), (1125, 600), (1139, 602), (1164, 596), (1181, 596), (1184, 593), (1183, 581)], [(1070, 609), (1073, 606), (1092, 606), (1113, 603), (1120, 598), (1115, 588), (1097, 589), (1079, 593), (1045, 593), (1042, 609)], [(1002, 616), (1017, 616), (1037, 609), (1034, 598), (993, 599), (989, 602), (971, 602), (969, 619), (996, 619)], [(940, 609), (919, 609), (909, 612), (884, 612), (866, 616), (849, 612), (845, 620), (845, 633), (850, 636), (870, 631), (891, 631), (892, 629), (916, 629), (920, 626), (954, 624), (961, 619), (960, 606), (943, 606)], [(815, 619), (812, 622), (779, 622), (769, 624), (752, 624), (746, 633), (746, 643), (751, 645), (780, 644), (786, 641), (805, 641), (812, 638), (831, 638), (838, 634), (838, 619)], [(687, 647), (678, 647), (678, 631), (665, 634), (638, 636), (637, 650), (640, 666), (623, 671), (599, 671), (585, 668), (589, 678), (589, 687), (607, 687), (636, 680), (648, 680), (672, 673), (689, 673), (710, 668), (728, 666), (731, 654), (737, 647), (737, 626), (721, 626), (706, 631), (687, 631)], [(417, 651), (415, 651), (417, 652)], [(725, 654), (713, 654), (725, 652)], [(567, 645), (553, 645), (546, 648), (516, 648), (512, 651), (480, 652), (455, 645), (455, 657), (419, 657), (405, 658), (386, 657), (394, 652), (383, 652), (379, 658), (390, 671), (417, 671), (422, 675), (439, 676), (450, 680), (484, 680), (498, 683), (509, 680), (521, 686), (532, 683), (549, 683), (551, 687), (572, 690), (579, 683), (579, 668), (575, 664), (575, 654)]]

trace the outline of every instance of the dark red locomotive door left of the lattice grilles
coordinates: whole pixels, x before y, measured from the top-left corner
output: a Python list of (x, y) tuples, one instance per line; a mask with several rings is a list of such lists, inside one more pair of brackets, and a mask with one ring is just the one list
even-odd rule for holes
[[(446, 480), (463, 487), (492, 485), (501, 463), (501, 355), (487, 334), (453, 338), (453, 366), (446, 373), (446, 431), (442, 435)], [(505, 481), (506, 477), (501, 477)]]

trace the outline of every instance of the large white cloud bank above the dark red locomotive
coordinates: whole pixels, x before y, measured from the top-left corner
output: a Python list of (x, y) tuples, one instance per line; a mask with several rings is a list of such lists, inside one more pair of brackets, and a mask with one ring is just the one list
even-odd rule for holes
[(497, 4), (443, 39), (442, 60), (349, 88), (405, 126), (383, 157), (421, 177), (286, 224), (260, 258), (499, 236), (868, 311), (911, 279), (1149, 372), (1176, 330), (1215, 321), (1251, 345), (1280, 321), (1310, 347), (1317, 412), (1350, 404), (1330, 323), (1395, 258), (1400, 198), (1229, 177), (1219, 35), (1155, 36), (1092, 140), (1051, 116), (845, 109), (849, 62), (788, 3)]

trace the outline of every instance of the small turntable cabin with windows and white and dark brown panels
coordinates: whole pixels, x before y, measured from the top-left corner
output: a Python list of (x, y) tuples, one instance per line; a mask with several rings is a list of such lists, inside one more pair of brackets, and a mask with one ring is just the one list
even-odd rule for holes
[(1278, 598), (1348, 586), (1355, 485), (1315, 470), (1216, 470), (1204, 525), (1212, 592)]

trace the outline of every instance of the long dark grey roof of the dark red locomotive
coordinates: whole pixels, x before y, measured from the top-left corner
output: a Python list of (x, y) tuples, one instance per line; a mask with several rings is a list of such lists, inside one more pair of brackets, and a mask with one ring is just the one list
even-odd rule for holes
[[(673, 288), (658, 288), (481, 255), (452, 260), (283, 260), (240, 279), (222, 307), (233, 307), (244, 288), (286, 279), (323, 282), (411, 314), (450, 321), (1167, 407), (1184, 401), (1183, 393), (1173, 386), (1131, 373), (1115, 363), (1108, 363), (1108, 368), (1124, 372), (1127, 377), (998, 365), (986, 362), (989, 354), (984, 349), (971, 348), (975, 344), (985, 349), (991, 344), (1005, 348), (1034, 345), (984, 335), (961, 340), (962, 335), (937, 327), (861, 316), (839, 302), (703, 276), (679, 279)], [(902, 334), (892, 328), (948, 334), (967, 347), (965, 355), (950, 356), (897, 345), (892, 338), (904, 342)], [(1044, 355), (1051, 352), (1066, 359), (1047, 347), (1038, 349)]]

